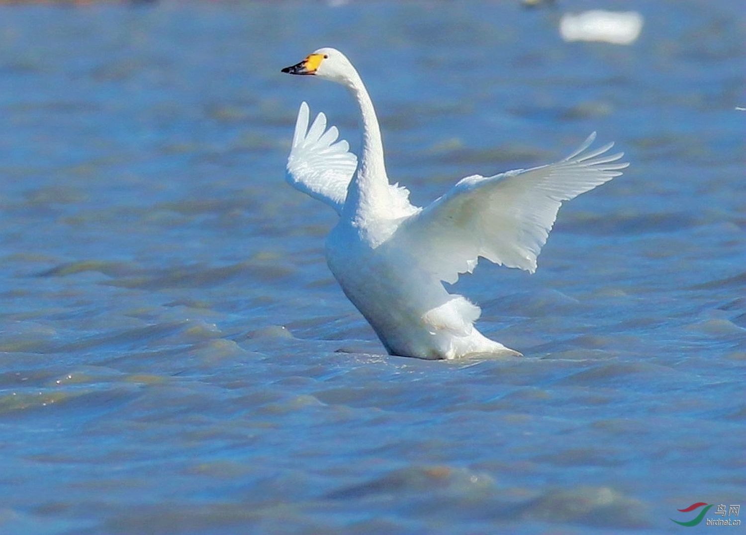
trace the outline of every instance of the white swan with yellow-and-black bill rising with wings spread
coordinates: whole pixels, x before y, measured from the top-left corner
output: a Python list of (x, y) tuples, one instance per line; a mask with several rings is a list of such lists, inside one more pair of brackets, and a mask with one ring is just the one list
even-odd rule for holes
[(372, 101), (344, 54), (320, 48), (282, 72), (341, 83), (360, 106), (358, 166), (347, 142), (336, 141), (336, 127), (327, 130), (323, 113), (308, 127), (308, 106), (301, 104), (287, 180), (339, 213), (326, 241), (327, 263), (388, 352), (433, 359), (521, 355), (477, 331), (480, 308), (448, 294), (442, 281), (470, 273), (480, 256), (533, 273), (562, 201), (621, 174), (628, 165), (618, 163), (622, 154), (601, 156), (612, 143), (586, 152), (593, 133), (560, 162), (466, 177), (421, 209), (410, 204), (407, 189), (389, 184)]

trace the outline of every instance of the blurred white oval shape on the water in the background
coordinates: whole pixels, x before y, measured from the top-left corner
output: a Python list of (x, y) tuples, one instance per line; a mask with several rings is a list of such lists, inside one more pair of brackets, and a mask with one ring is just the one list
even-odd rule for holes
[(639, 37), (643, 21), (637, 11), (565, 13), (560, 19), (560, 35), (565, 41), (604, 41), (630, 45)]

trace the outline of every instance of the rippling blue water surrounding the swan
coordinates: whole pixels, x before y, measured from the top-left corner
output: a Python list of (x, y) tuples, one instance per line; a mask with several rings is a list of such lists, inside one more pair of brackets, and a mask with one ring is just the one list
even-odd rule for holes
[[(558, 4), (0, 7), (0, 533), (652, 534), (743, 504), (741, 2)], [(590, 7), (640, 39), (562, 42)], [(280, 74), (324, 45), (415, 203), (592, 130), (627, 153), (535, 275), (457, 284), (525, 358), (384, 355), (336, 286), (336, 215), (283, 181), (301, 100), (357, 148), (344, 89)]]

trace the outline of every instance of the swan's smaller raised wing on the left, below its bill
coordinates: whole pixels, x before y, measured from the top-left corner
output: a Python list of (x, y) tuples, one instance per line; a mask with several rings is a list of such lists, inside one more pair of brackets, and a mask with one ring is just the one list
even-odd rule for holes
[(333, 206), (337, 213), (347, 197), (347, 186), (357, 168), (357, 157), (344, 139), (336, 141), (336, 127), (326, 130), (326, 116), (316, 115), (308, 127), (308, 104), (301, 103), (287, 159), (290, 186)]

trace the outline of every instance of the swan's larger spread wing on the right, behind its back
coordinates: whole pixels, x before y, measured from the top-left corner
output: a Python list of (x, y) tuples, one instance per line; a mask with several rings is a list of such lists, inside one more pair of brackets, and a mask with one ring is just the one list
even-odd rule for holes
[(551, 165), (464, 178), (405, 221), (398, 238), (446, 282), (471, 273), (480, 256), (533, 273), (562, 201), (617, 177), (629, 165), (618, 163), (624, 153), (604, 155), (613, 143), (586, 151), (594, 139), (595, 132)]

